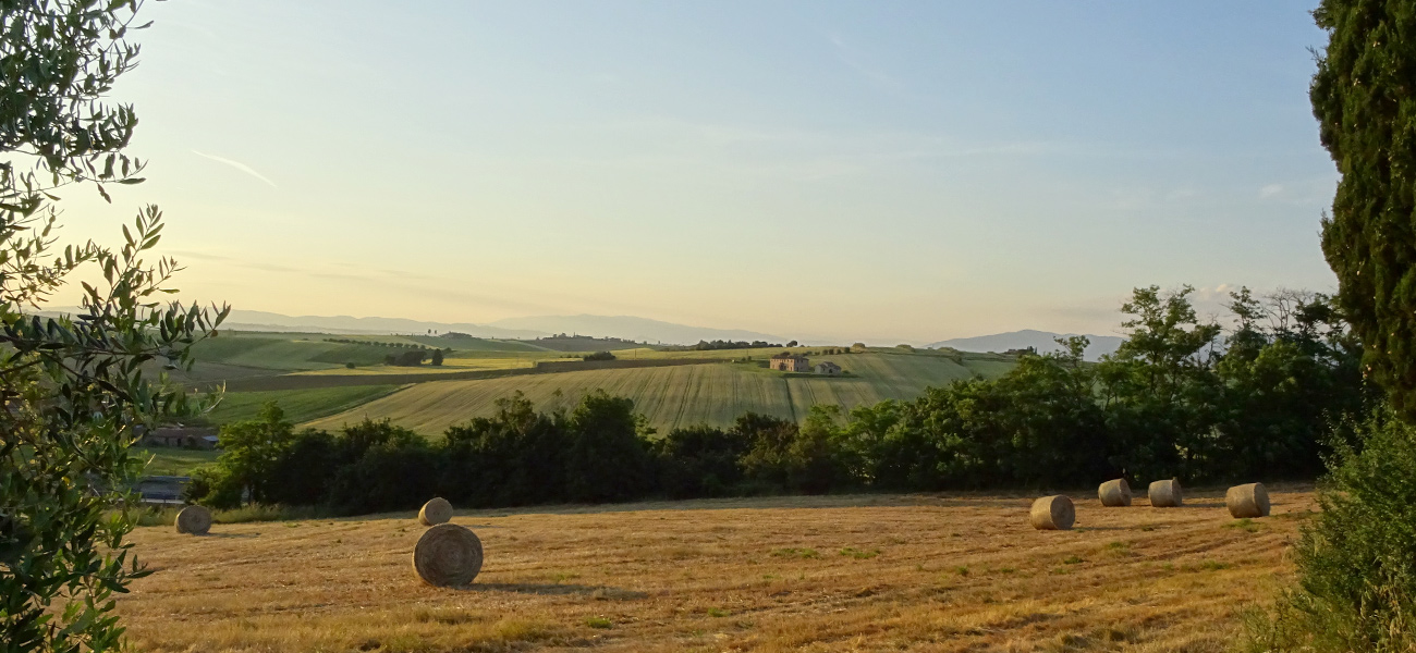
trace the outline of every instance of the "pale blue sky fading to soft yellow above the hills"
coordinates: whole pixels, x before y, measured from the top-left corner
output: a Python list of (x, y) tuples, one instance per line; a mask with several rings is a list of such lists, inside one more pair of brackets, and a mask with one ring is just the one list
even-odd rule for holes
[(1116, 334), (1133, 287), (1331, 291), (1313, 1), (147, 3), (187, 301), (801, 339)]

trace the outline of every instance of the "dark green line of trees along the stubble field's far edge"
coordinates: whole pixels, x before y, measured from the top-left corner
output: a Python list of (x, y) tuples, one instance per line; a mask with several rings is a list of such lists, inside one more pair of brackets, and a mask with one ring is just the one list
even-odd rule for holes
[[(248, 490), (262, 500), (289, 496), (351, 512), (416, 507), (432, 495), (518, 506), (1078, 488), (1116, 476), (1313, 478), (1331, 435), (1341, 435), (1332, 425), (1372, 400), (1358, 370), (1361, 351), (1330, 300), (1294, 293), (1256, 300), (1240, 291), (1226, 331), (1198, 321), (1189, 294), (1138, 288), (1123, 308), (1127, 345), (1100, 363), (1082, 360), (1086, 338), (1070, 338), (1062, 352), (1025, 355), (994, 380), (956, 382), (850, 413), (816, 407), (801, 424), (749, 413), (728, 428), (677, 428), (656, 438), (627, 399), (596, 393), (568, 413), (539, 413), (517, 396), (432, 444), (387, 421), (337, 435), (296, 434), (280, 451), (299, 462), (278, 457), (273, 468), (319, 471), (324, 479), (300, 478), (300, 496), (280, 488), (285, 472), (249, 473), (236, 464), (266, 459), (259, 455), (228, 462), (224, 454), (218, 468), (228, 469), (218, 476), (265, 478), (272, 488)], [(222, 447), (245, 451), (251, 434), (273, 433), (285, 431), (269, 420), (232, 424)], [(280, 438), (261, 442), (268, 440)], [(320, 455), (326, 459), (314, 459)], [(416, 478), (398, 486), (405, 475)], [(232, 503), (211, 490), (224, 485), (204, 483), (201, 500)]]

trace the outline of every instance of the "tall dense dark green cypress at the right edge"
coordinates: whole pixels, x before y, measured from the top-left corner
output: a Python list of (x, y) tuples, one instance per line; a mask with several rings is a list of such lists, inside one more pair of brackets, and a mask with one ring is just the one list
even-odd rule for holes
[(1416, 417), (1416, 3), (1325, 0), (1310, 90), (1341, 180), (1323, 220), (1338, 301), (1369, 377)]

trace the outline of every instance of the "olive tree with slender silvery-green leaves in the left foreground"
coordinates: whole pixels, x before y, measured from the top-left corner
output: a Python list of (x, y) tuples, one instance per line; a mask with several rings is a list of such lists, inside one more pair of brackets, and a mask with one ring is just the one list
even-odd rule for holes
[[(136, 65), (126, 41), (139, 3), (0, 3), (0, 649), (109, 650), (123, 629), (113, 592), (142, 575), (125, 536), (123, 489), (142, 472), (139, 427), (191, 407), (153, 365), (181, 367), (214, 329), (208, 314), (157, 300), (174, 261), (144, 261), (163, 223), (156, 206), (123, 228), (118, 250), (58, 250), (55, 189), (136, 184), (123, 155), (137, 124), (109, 105)], [(92, 269), (81, 310), (33, 310)], [(212, 331), (214, 334), (214, 331)]]

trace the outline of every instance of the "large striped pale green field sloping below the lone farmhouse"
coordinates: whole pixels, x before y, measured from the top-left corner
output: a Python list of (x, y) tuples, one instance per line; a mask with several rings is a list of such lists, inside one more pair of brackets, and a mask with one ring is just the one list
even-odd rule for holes
[(725, 425), (749, 410), (800, 420), (813, 404), (848, 410), (885, 399), (912, 399), (927, 386), (976, 375), (997, 376), (1010, 366), (997, 356), (956, 360), (933, 353), (850, 353), (811, 360), (835, 362), (851, 376), (787, 376), (752, 363), (712, 363), (429, 382), (309, 425), (338, 428), (364, 417), (388, 417), (435, 437), (452, 424), (490, 414), (498, 399), (517, 392), (542, 410), (558, 410), (572, 407), (586, 393), (605, 390), (634, 400), (650, 424), (664, 433), (701, 423)]

